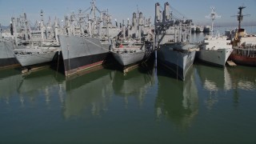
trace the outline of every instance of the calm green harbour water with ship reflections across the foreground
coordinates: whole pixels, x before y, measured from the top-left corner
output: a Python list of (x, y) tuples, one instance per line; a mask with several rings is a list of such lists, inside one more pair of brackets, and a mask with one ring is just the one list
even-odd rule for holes
[(0, 143), (256, 143), (256, 68), (0, 70)]

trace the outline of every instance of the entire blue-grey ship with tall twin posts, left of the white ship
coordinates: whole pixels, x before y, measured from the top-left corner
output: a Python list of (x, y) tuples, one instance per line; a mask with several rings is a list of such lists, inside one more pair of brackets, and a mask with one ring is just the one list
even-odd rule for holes
[(191, 43), (192, 20), (176, 20), (170, 16), (170, 5), (165, 3), (161, 13), (159, 3), (155, 4), (155, 31), (158, 43), (158, 63), (185, 81), (186, 74), (194, 62), (198, 43)]

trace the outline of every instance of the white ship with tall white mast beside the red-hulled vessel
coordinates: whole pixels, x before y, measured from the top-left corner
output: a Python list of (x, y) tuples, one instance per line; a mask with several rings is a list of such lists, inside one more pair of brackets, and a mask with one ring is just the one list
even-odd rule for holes
[[(207, 18), (207, 17), (206, 17)], [(209, 18), (212, 20), (212, 29), (210, 35), (206, 35), (202, 44), (199, 46), (196, 57), (202, 62), (207, 62), (215, 66), (225, 66), (227, 58), (229, 58), (233, 51), (231, 41), (226, 36), (214, 35), (214, 19), (220, 18), (215, 13), (214, 7), (211, 7)]]

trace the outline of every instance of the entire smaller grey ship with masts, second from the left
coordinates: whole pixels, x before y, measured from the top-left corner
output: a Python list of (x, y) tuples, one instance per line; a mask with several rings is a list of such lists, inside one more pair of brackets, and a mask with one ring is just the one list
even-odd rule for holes
[(26, 14), (21, 17), (21, 38), (17, 40), (16, 18), (11, 18), (14, 26), (14, 39), (16, 48), (14, 56), (22, 66), (39, 65), (51, 62), (54, 55), (60, 50), (58, 42), (58, 22), (55, 19), (54, 28), (49, 20), (48, 26), (43, 22), (43, 12), (41, 10), (41, 22), (38, 30), (31, 30)]

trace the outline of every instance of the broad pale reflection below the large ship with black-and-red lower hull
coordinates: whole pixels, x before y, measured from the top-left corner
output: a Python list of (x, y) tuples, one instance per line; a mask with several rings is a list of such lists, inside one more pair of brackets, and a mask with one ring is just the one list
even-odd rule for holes
[(113, 71), (97, 70), (66, 80), (65, 118), (101, 115), (113, 95)]

